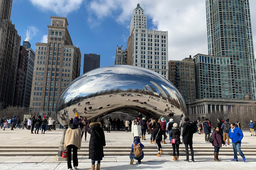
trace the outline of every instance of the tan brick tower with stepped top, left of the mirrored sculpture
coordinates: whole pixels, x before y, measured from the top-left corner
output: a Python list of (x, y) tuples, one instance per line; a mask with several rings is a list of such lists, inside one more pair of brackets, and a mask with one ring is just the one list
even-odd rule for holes
[(62, 91), (80, 75), (81, 52), (73, 45), (66, 17), (51, 17), (47, 43), (36, 43), (29, 107), (33, 115), (56, 119), (56, 103)]

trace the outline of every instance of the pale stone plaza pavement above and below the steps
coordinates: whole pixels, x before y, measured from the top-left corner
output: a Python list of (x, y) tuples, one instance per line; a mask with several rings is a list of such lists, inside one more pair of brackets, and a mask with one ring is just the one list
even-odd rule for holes
[[(15, 146), (43, 146), (52, 145), (58, 146), (62, 138), (62, 130), (54, 130), (46, 132), (45, 134), (31, 134), (30, 130), (6, 129), (0, 130), (0, 147), (5, 145)], [(117, 146), (130, 146), (133, 142), (131, 132), (125, 133), (124, 131), (111, 131), (111, 133), (105, 133), (106, 144)], [(146, 141), (142, 141), (145, 146), (151, 145), (149, 143), (150, 135), (146, 135)], [(87, 135), (87, 142), (82, 140), (82, 146), (88, 146), (90, 135)], [(244, 138), (242, 140), (242, 146), (253, 147), (256, 146), (256, 136), (250, 136), (249, 132), (244, 132)], [(166, 144), (170, 145), (170, 144)], [(166, 146), (164, 145), (164, 146)], [(194, 134), (193, 138), (194, 146), (211, 146), (209, 143), (204, 142), (204, 135)], [(163, 150), (164, 152), (164, 150)], [(213, 147), (212, 147), (213, 152)], [(156, 147), (157, 153), (157, 147)], [(245, 155), (246, 156), (246, 155)], [(142, 160), (142, 164), (137, 164), (134, 161), (134, 165), (130, 165), (129, 156), (105, 156), (102, 160), (101, 169), (103, 170), (171, 170), (171, 169), (221, 169), (223, 167), (229, 167), (239, 169), (255, 169), (256, 167), (256, 155), (246, 156), (247, 161), (243, 162), (241, 156), (239, 156), (238, 162), (231, 162), (233, 156), (219, 156), (221, 162), (213, 161), (213, 156), (195, 156), (195, 162), (184, 162), (186, 156), (180, 156), (180, 161), (172, 161), (172, 156), (164, 155), (157, 156), (145, 156)], [(90, 169), (90, 159), (88, 156), (79, 156), (80, 170)], [(0, 156), (0, 170), (67, 170), (67, 163), (64, 161), (54, 161), (54, 156)]]

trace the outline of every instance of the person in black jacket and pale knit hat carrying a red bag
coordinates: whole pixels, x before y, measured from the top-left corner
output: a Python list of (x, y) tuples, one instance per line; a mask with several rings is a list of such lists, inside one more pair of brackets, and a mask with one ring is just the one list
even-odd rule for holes
[[(172, 139), (175, 139), (175, 143), (172, 143), (172, 150), (173, 150), (173, 159), (174, 161), (179, 160), (179, 146), (180, 146), (180, 130), (178, 128), (178, 124), (174, 123), (172, 130), (170, 131), (170, 136)], [(177, 154), (176, 154), (177, 152)]]

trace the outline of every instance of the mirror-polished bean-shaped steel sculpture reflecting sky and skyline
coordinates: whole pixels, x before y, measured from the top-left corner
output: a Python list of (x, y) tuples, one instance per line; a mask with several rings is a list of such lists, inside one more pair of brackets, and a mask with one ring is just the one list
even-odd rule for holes
[(57, 102), (57, 116), (68, 125), (76, 112), (88, 120), (113, 112), (178, 122), (186, 115), (180, 92), (168, 79), (145, 68), (114, 65), (98, 68), (75, 79)]

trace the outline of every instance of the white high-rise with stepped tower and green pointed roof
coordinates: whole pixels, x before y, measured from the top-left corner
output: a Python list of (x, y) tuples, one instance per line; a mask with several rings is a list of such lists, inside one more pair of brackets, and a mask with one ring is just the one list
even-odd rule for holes
[(168, 78), (168, 32), (148, 30), (147, 17), (140, 4), (131, 18), (127, 64), (148, 68)]

